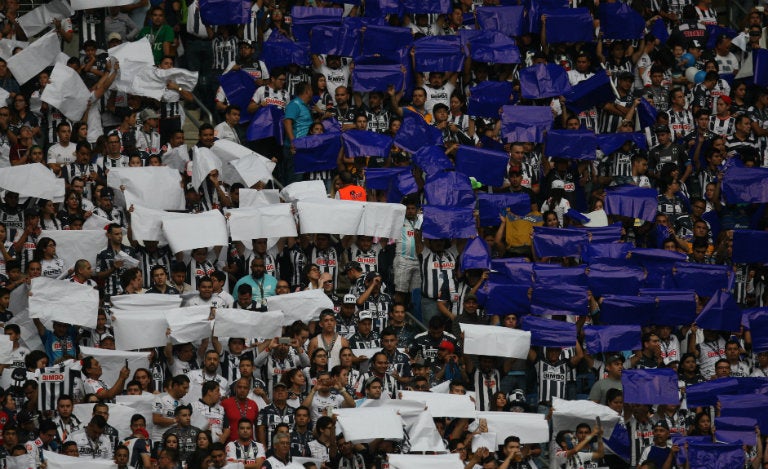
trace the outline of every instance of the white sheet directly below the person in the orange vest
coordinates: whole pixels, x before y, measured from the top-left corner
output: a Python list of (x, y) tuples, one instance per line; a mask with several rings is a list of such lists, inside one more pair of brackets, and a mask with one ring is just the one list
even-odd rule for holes
[(350, 200), (305, 199), (296, 203), (302, 233), (357, 234), (364, 209), (365, 204)]

